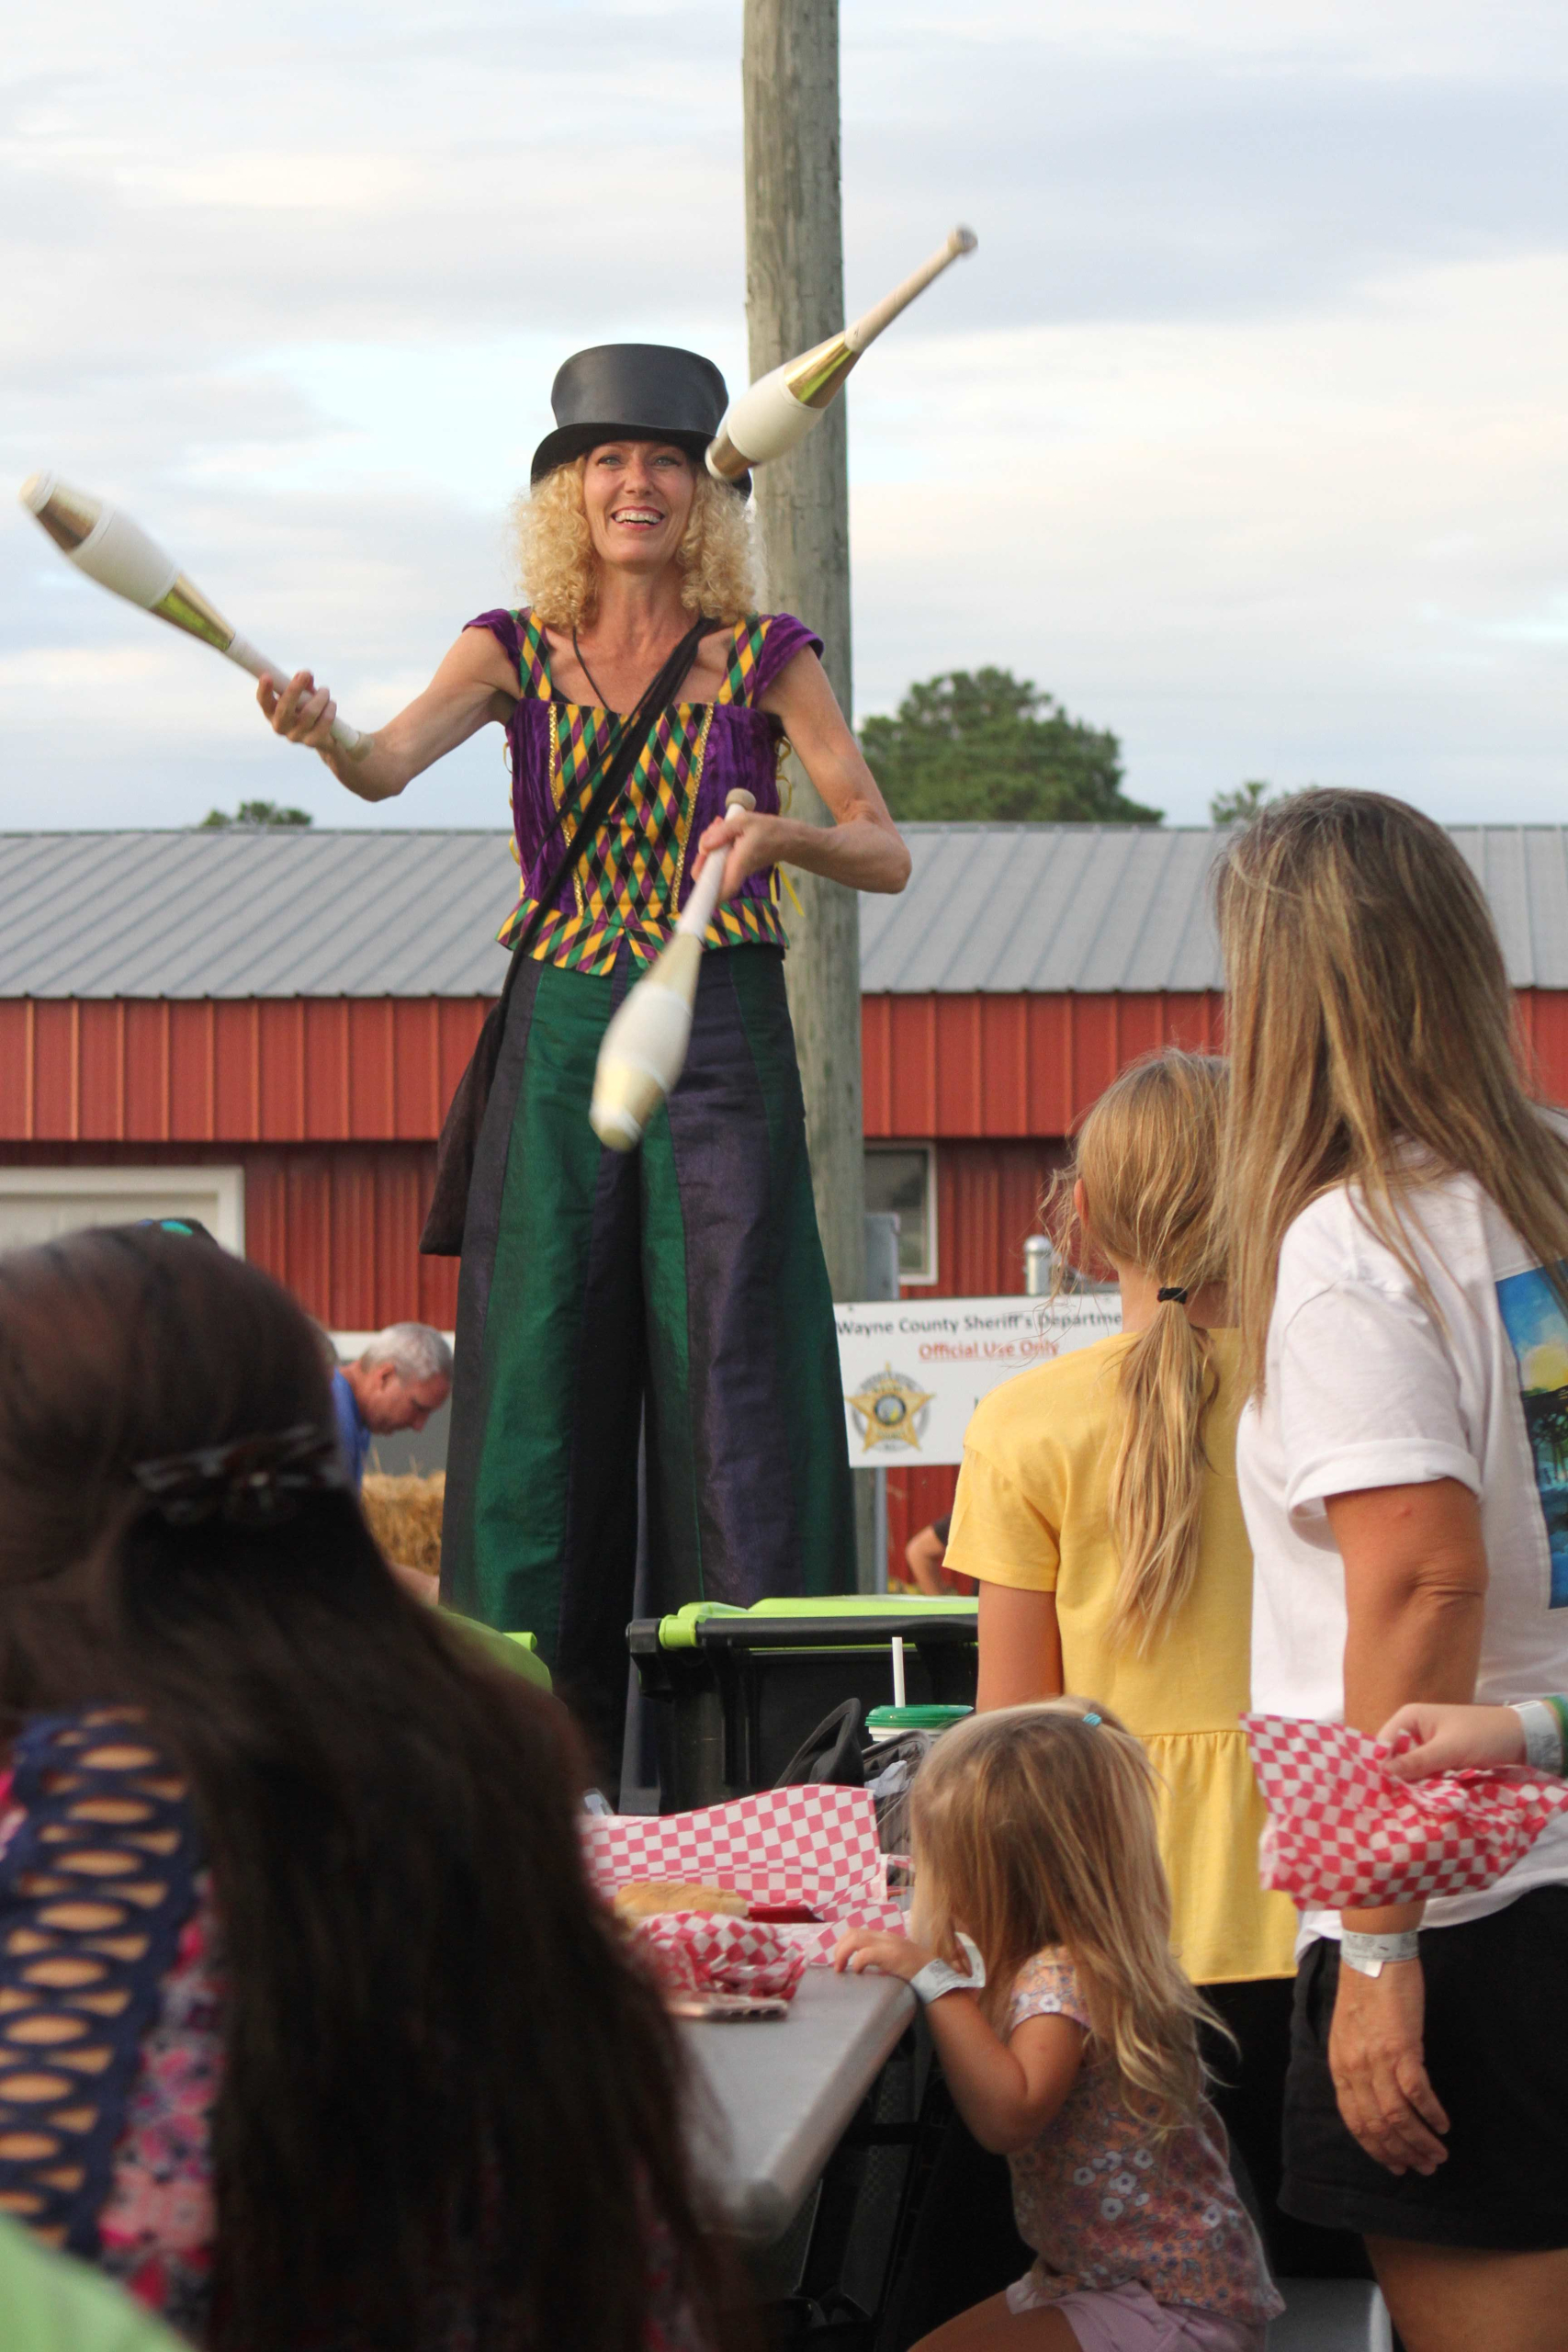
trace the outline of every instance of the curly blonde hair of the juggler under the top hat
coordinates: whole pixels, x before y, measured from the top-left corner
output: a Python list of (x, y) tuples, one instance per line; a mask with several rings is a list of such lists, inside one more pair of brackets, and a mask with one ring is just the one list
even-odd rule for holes
[[(599, 567), (583, 508), (585, 456), (557, 466), (517, 496), (520, 590), (545, 628), (583, 628), (599, 602)], [(696, 494), (679, 543), (682, 604), (712, 621), (743, 621), (762, 604), (762, 564), (750, 506), (696, 468)]]

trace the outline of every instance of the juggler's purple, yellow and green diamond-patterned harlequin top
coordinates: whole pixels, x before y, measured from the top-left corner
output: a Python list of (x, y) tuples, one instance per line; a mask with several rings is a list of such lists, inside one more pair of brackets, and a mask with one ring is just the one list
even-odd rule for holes
[[(468, 628), (489, 628), (517, 666), (517, 706), (505, 734), (522, 896), (498, 931), (510, 948), (592, 793), (616, 715), (552, 691), (550, 649), (531, 612), (482, 612)], [(785, 612), (736, 623), (715, 701), (661, 713), (621, 800), (541, 924), (531, 948), (538, 962), (604, 974), (623, 943), (635, 962), (654, 962), (691, 891), (696, 842), (724, 814), (726, 793), (745, 786), (766, 816), (778, 814), (783, 727), (759, 701), (804, 647), (823, 652), (820, 637)], [(750, 875), (719, 906), (705, 946), (785, 946), (776, 873)]]

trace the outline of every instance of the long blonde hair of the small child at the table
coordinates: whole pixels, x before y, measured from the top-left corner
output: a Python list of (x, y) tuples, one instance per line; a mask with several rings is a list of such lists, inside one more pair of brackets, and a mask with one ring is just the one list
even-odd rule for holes
[(1204, 2096), (1208, 2011), (1171, 1955), (1152, 1783), (1138, 1740), (1093, 1700), (971, 1715), (914, 1776), (912, 1929), (957, 1966), (957, 1931), (976, 1940), (997, 2032), (1023, 1964), (1065, 1947), (1124, 2103), (1166, 2133)]

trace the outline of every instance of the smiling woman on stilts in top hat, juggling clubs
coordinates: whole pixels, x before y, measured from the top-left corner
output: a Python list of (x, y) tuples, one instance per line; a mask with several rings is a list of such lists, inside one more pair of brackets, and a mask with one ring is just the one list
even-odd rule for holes
[[(898, 891), (910, 858), (820, 640), (755, 609), (750, 480), (703, 466), (724, 405), (696, 353), (611, 343), (567, 360), (520, 513), (531, 602), (470, 621), (357, 762), (331, 743), (336, 706), (308, 670), (259, 691), (275, 731), (364, 800), (505, 727), (522, 896), (501, 938), (524, 962), (463, 1216), (442, 1592), (538, 1635), (611, 1771), (639, 1430), (654, 1609), (853, 1588), (776, 868)], [(785, 739), (832, 826), (780, 811)], [(599, 816), (595, 786), (632, 748)], [(755, 811), (724, 814), (736, 788)], [(623, 1157), (588, 1127), (599, 1037), (708, 856), (726, 861), (724, 896), (691, 1054), (668, 1117)]]

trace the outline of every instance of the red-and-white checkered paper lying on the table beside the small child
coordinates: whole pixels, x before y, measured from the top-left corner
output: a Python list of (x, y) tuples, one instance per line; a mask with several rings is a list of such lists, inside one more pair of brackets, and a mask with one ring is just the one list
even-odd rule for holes
[(604, 1896), (654, 1879), (733, 1886), (750, 1903), (804, 1903), (820, 1912), (820, 1926), (766, 1924), (809, 1962), (832, 1959), (846, 1926), (903, 1931), (903, 1912), (886, 1898), (877, 1806), (863, 1788), (769, 1788), (696, 1813), (588, 1813), (583, 1839)]

